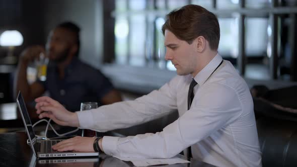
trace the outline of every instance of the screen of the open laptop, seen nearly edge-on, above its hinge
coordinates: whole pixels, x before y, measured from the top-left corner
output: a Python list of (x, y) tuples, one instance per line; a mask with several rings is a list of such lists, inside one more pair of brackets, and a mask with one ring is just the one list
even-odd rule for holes
[(29, 114), (28, 114), (28, 111), (27, 111), (27, 108), (26, 108), (26, 105), (25, 105), (25, 102), (24, 102), (21, 92), (18, 95), (17, 103), (18, 103), (19, 110), (21, 112), (24, 124), (27, 127), (26, 129), (28, 130), (28, 132), (27, 132), (27, 133), (29, 133), (28, 136), (30, 136), (31, 140), (33, 140), (35, 138), (35, 133), (34, 133), (32, 123), (31, 123), (31, 120), (30, 120), (30, 117), (29, 117)]

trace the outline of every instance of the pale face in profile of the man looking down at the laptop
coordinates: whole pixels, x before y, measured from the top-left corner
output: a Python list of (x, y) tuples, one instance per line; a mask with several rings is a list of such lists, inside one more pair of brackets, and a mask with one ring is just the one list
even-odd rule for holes
[(197, 52), (195, 42), (188, 44), (165, 30), (165, 59), (170, 60), (178, 75), (194, 74), (197, 71)]

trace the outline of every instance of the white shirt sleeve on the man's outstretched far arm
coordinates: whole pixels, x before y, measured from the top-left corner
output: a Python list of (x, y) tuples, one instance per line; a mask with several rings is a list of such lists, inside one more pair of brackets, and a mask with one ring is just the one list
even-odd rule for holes
[(80, 128), (105, 132), (141, 124), (176, 111), (176, 80), (173, 78), (158, 91), (134, 101), (118, 102), (98, 109), (77, 112)]

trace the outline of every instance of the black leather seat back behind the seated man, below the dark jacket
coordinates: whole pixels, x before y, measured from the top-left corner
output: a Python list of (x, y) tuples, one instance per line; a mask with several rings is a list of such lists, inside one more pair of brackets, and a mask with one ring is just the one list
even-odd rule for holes
[(297, 166), (297, 122), (261, 117), (257, 129), (263, 167)]

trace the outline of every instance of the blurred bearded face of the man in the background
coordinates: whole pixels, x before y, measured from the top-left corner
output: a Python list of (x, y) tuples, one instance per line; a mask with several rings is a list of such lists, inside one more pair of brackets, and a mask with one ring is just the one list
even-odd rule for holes
[[(73, 34), (64, 28), (52, 30), (46, 42), (46, 54), (55, 62), (64, 61), (73, 46)], [(72, 40), (71, 40), (72, 39)]]

